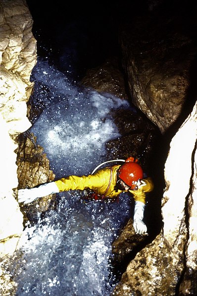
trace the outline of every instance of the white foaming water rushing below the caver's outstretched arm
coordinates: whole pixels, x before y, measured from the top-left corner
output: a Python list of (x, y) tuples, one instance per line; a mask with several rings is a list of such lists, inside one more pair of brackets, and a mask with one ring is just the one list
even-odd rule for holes
[(130, 199), (85, 203), (79, 192), (60, 195), (58, 209), (25, 229), (19, 250), (4, 264), (16, 296), (110, 296), (116, 284), (111, 243), (131, 215)]

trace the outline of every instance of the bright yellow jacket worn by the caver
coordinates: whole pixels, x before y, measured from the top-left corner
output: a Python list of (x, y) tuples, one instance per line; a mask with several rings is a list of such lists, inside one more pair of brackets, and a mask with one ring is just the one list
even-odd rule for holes
[[(117, 171), (120, 165), (107, 167), (99, 170), (94, 175), (88, 176), (69, 176), (67, 178), (61, 178), (55, 181), (59, 192), (67, 191), (67, 190), (84, 190), (84, 189), (92, 189), (99, 195), (104, 195), (108, 198), (113, 198), (118, 196), (122, 190), (114, 190), (114, 186), (116, 185)], [(153, 190), (153, 182), (151, 178), (143, 179), (147, 183), (146, 186), (138, 190), (129, 190), (134, 196), (136, 201), (142, 201), (145, 203), (146, 192), (150, 192)]]

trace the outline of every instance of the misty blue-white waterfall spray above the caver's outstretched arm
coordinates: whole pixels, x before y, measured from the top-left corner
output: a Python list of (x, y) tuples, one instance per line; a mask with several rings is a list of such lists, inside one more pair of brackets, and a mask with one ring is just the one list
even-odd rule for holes
[[(56, 178), (90, 174), (105, 157), (104, 144), (120, 136), (112, 110), (128, 109), (129, 104), (111, 94), (71, 86), (46, 62), (40, 62), (39, 68), (42, 70), (36, 72), (35, 79), (41, 81), (47, 73), (41, 85), (42, 89), (48, 88), (50, 96), (31, 131), (44, 147)], [(42, 91), (37, 95), (41, 97)]]

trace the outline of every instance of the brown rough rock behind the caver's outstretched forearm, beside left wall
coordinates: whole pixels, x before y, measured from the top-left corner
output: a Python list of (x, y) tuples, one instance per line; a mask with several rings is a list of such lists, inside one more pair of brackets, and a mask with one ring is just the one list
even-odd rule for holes
[[(49, 168), (49, 159), (43, 152), (43, 147), (36, 143), (36, 137), (33, 133), (25, 132), (19, 136), (19, 147), (17, 149), (17, 176), (18, 189), (32, 188), (39, 184), (52, 181), (55, 175)], [(55, 195), (45, 196), (36, 199), (28, 205), (20, 204), (24, 214), (24, 224), (27, 220), (31, 220), (31, 216), (38, 212), (46, 211), (51, 205), (51, 200)]]

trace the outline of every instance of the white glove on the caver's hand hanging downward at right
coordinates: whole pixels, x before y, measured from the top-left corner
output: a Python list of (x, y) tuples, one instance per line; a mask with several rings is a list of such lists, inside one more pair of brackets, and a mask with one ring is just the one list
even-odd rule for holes
[(144, 217), (145, 204), (142, 201), (135, 202), (133, 227), (137, 234), (147, 233), (147, 226), (142, 221)]

